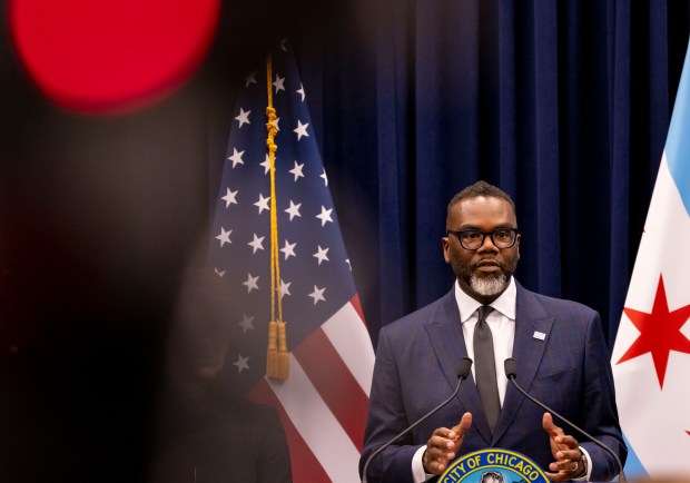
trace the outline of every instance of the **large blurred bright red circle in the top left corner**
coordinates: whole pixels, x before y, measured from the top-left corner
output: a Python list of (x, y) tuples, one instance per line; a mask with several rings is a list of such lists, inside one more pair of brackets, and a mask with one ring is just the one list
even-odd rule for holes
[(220, 0), (11, 0), (17, 52), (70, 110), (108, 114), (170, 93), (199, 67)]

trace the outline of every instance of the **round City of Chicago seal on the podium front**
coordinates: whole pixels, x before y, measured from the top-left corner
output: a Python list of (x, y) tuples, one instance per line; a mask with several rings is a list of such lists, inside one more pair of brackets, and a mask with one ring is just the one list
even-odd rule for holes
[(438, 483), (550, 483), (536, 463), (514, 451), (492, 447), (455, 460)]

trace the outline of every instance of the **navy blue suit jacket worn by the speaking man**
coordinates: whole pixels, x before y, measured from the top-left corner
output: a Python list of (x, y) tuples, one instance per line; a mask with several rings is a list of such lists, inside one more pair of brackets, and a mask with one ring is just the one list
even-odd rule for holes
[[(539, 334), (545, 334), (540, 338)], [(454, 290), (431, 305), (384, 326), (376, 363), (359, 470), (371, 452), (445, 401), (457, 384), (457, 363), (467, 356)], [(530, 395), (578, 424), (618, 453), (624, 462), (613, 377), (599, 314), (575, 302), (535, 294), (518, 284), (513, 358), (518, 383)], [(460, 455), (486, 447), (518, 451), (548, 471), (554, 461), (542, 428), (544, 411), (509, 382), (493, 436), (472, 375), (460, 394), (402, 441), (377, 455), (368, 482), (412, 482), (411, 462), (437, 427), (452, 427), (465, 412), (473, 423)], [(615, 461), (595, 444), (578, 438), (592, 459), (592, 480), (618, 473)]]

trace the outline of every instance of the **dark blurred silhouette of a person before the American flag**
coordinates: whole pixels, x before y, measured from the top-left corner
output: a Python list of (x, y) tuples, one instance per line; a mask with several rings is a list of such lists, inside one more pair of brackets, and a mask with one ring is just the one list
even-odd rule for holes
[(191, 270), (167, 339), (149, 483), (292, 483), (278, 412), (223, 377), (236, 307), (223, 278)]

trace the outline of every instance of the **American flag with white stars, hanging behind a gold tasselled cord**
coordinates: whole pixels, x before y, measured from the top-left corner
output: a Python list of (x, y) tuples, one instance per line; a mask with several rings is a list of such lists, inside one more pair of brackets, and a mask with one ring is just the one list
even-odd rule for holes
[(338, 226), (307, 95), (287, 42), (272, 55), (283, 319), (289, 378), (265, 377), (270, 303), (266, 67), (247, 76), (233, 126), (209, 264), (236, 289), (239, 341), (226, 377), (283, 416), (296, 483), (358, 481), (374, 351)]

